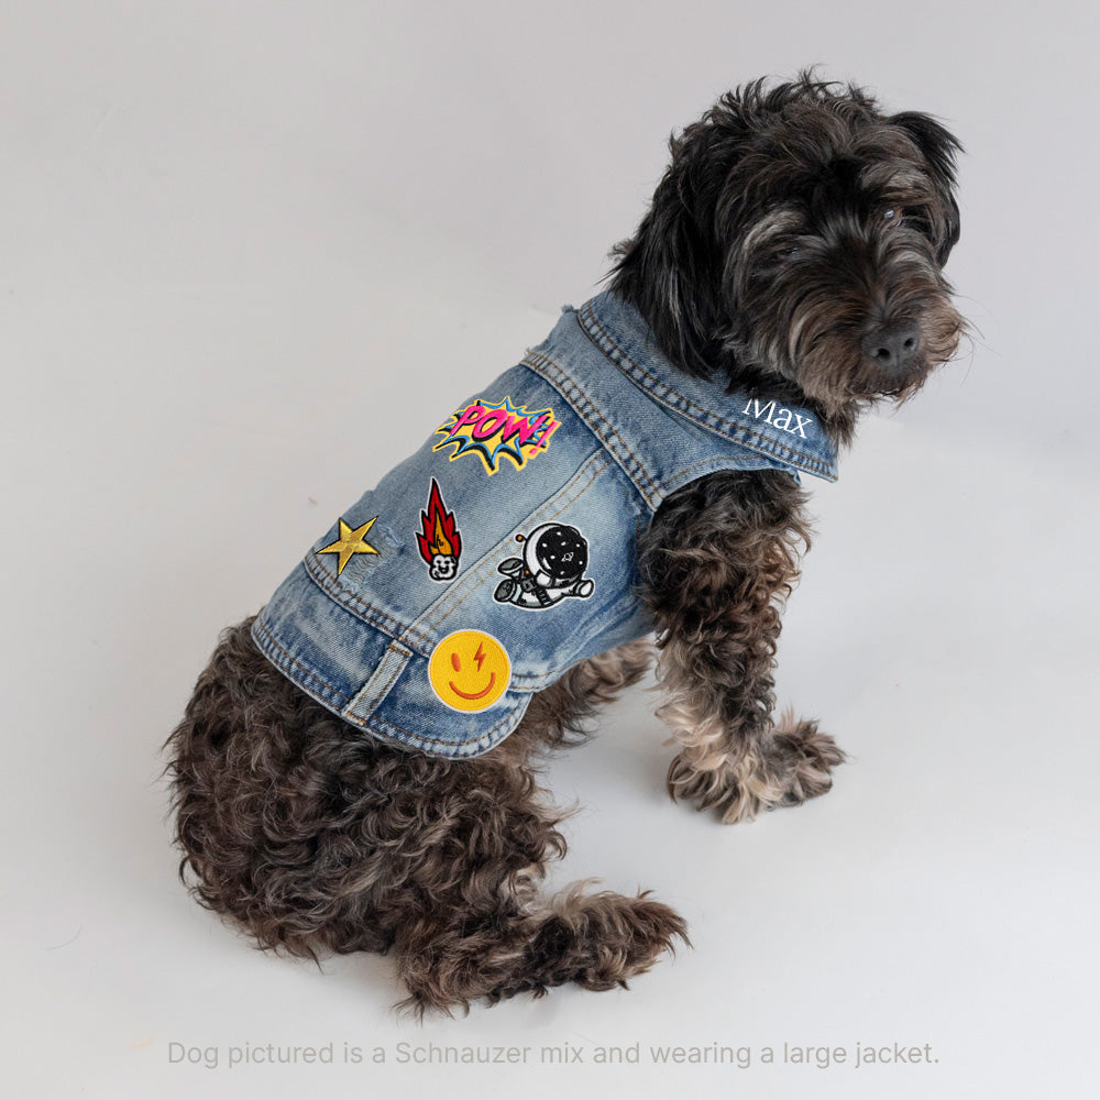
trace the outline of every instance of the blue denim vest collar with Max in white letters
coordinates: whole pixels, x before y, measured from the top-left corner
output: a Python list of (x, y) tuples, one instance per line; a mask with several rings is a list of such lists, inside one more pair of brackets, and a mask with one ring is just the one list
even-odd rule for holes
[(726, 393), (675, 367), (642, 316), (610, 290), (578, 310), (590, 340), (653, 400), (692, 422), (796, 470), (836, 481), (836, 448), (821, 421), (799, 405)]

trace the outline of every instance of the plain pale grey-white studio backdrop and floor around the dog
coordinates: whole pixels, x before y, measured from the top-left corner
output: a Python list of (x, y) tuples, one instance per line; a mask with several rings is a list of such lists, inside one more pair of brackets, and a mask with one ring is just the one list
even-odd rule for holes
[[(6, 945), (11, 1094), (1094, 1094), (1094, 16), (1077, 3), (0, 3)], [(388, 959), (264, 956), (175, 879), (160, 746), (218, 630), (579, 305), (670, 131), (820, 63), (961, 138), (972, 345), (870, 419), (781, 647), (851, 754), (723, 828), (663, 794), (635, 693), (554, 763), (554, 884), (691, 924), (629, 991), (422, 1027)], [(399, 1065), (397, 1044), (584, 1048)], [(759, 1048), (845, 1046), (829, 1069)], [(932, 1065), (855, 1069), (855, 1045)], [(217, 1069), (170, 1060), (212, 1047)], [(385, 1065), (251, 1065), (360, 1046)], [(647, 1066), (659, 1044), (754, 1065)], [(595, 1048), (639, 1044), (608, 1069)]]

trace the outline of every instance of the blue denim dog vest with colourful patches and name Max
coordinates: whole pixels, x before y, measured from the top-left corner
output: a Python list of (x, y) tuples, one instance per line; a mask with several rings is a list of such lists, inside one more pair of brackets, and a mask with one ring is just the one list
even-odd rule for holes
[(353, 727), (477, 756), (534, 692), (648, 634), (635, 542), (718, 470), (836, 479), (806, 409), (726, 394), (604, 293), (446, 416), (319, 539), (253, 625), (260, 649)]

